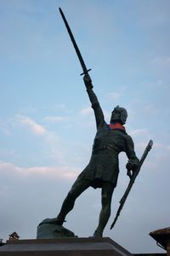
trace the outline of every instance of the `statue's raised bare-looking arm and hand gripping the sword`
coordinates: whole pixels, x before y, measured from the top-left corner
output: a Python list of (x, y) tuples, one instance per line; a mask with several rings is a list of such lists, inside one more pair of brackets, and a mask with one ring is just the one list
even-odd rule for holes
[(92, 103), (92, 108), (94, 109), (96, 126), (98, 128), (99, 125), (104, 125), (104, 123), (105, 123), (104, 113), (103, 113), (102, 109), (100, 108), (98, 98), (94, 93), (94, 90), (93, 90), (94, 86), (92, 84), (92, 80), (90, 79), (90, 76), (88, 74), (85, 74), (83, 80), (84, 80), (84, 84), (87, 88), (89, 100)]

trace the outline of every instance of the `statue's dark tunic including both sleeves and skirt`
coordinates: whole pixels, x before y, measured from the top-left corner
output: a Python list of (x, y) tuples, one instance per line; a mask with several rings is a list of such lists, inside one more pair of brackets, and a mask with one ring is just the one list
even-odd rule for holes
[(91, 180), (91, 186), (94, 189), (102, 187), (103, 182), (110, 182), (116, 187), (119, 174), (118, 154), (123, 151), (127, 154), (129, 160), (138, 160), (134, 152), (133, 140), (122, 129), (111, 130), (110, 125), (105, 122), (103, 111), (94, 91), (92, 89), (87, 91), (94, 109), (97, 132), (94, 138), (91, 159), (78, 179)]

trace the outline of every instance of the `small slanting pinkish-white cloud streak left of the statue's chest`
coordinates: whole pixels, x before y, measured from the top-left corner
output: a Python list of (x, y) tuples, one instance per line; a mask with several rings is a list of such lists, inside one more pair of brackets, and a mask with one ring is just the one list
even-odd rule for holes
[(18, 114), (17, 119), (20, 124), (28, 126), (34, 134), (43, 135), (46, 132), (45, 128), (42, 125), (37, 124), (36, 121), (27, 116)]

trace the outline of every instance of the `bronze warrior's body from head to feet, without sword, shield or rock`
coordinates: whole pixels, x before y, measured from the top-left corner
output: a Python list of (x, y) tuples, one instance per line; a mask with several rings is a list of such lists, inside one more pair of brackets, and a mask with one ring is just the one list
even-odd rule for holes
[(119, 174), (118, 154), (122, 151), (127, 154), (127, 175), (132, 177), (139, 165), (139, 159), (134, 152), (133, 139), (127, 135), (124, 124), (127, 120), (127, 110), (117, 106), (111, 113), (111, 123), (105, 122), (105, 117), (100, 108), (97, 96), (94, 94), (92, 81), (87, 74), (84, 75), (84, 83), (88, 97), (94, 109), (97, 132), (91, 159), (88, 166), (80, 173), (71, 190), (62, 204), (57, 218), (52, 218), (50, 223), (62, 225), (65, 216), (71, 212), (79, 195), (88, 187), (101, 188), (101, 212), (99, 224), (94, 231), (94, 237), (102, 237), (105, 225), (111, 215), (111, 197), (116, 188)]

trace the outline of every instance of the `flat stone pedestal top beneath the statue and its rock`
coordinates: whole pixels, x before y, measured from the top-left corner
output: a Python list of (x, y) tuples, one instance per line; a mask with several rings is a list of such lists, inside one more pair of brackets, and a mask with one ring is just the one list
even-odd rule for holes
[(0, 256), (131, 256), (108, 237), (7, 241)]

